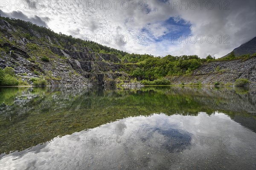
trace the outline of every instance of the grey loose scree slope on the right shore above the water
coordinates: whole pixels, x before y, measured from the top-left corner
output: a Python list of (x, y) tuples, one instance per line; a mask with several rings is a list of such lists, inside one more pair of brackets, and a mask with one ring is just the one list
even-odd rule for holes
[(212, 85), (220, 82), (220, 85), (233, 85), (236, 79), (248, 79), (250, 85), (256, 85), (256, 57), (243, 61), (236, 59), (231, 61), (212, 61), (202, 64), (192, 74), (170, 77), (172, 84), (196, 84)]

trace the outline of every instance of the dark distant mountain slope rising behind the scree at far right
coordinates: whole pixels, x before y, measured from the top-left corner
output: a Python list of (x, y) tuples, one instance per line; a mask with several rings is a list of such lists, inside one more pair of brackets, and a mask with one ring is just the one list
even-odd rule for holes
[[(236, 55), (236, 57), (239, 57), (243, 54), (254, 54), (256, 53), (256, 37), (254, 37), (252, 40), (245, 42), (244, 44), (240, 45), (239, 47), (235, 48), (234, 53)], [(230, 55), (231, 52), (221, 58), (227, 57), (228, 55)]]

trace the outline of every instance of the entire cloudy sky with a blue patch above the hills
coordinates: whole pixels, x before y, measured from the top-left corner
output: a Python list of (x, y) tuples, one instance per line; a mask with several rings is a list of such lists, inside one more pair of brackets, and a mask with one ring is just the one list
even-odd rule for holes
[(136, 54), (222, 57), (256, 37), (255, 0), (1, 0), (3, 17)]

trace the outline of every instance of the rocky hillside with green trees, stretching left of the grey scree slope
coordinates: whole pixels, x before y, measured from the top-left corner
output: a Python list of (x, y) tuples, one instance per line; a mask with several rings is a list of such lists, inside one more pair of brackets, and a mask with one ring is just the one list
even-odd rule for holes
[(8, 17), (0, 18), (0, 37), (0, 85), (170, 85), (177, 84), (174, 77), (189, 77), (207, 63), (256, 56), (231, 53), (224, 59), (210, 55), (200, 59), (197, 55), (128, 54)]

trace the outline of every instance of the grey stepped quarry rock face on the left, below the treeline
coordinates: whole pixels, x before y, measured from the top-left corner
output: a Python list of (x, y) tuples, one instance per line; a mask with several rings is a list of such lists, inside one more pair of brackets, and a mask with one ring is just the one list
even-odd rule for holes
[[(49, 85), (115, 85), (118, 77), (130, 80), (131, 76), (122, 71), (129, 68), (120, 64), (116, 55), (74, 45), (64, 49), (60, 43), (65, 40), (59, 42), (30, 28), (28, 31), (31, 37), (26, 38), (26, 31), (0, 20), (0, 68), (14, 68), (29, 84), (33, 77), (46, 77)], [(42, 60), (45, 56), (49, 61)]]

